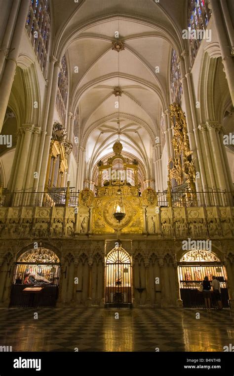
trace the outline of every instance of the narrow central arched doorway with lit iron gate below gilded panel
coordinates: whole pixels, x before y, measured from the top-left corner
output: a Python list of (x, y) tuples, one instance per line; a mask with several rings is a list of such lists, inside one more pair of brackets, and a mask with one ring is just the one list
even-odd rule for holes
[(123, 248), (114, 248), (106, 258), (106, 307), (125, 307), (132, 304), (131, 258)]

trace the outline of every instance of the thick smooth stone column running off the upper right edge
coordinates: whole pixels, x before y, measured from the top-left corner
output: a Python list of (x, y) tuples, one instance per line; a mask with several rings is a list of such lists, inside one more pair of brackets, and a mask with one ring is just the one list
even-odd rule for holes
[[(224, 1), (222, 1), (224, 6)], [(224, 64), (224, 70), (226, 74), (226, 78), (228, 81), (229, 91), (231, 94), (232, 102), (234, 105), (234, 62), (233, 62), (233, 56), (231, 54), (231, 50), (233, 46), (230, 45), (229, 37), (226, 32), (226, 27), (228, 25), (225, 24), (223, 21), (223, 16), (227, 18), (226, 10), (224, 9), (224, 14), (222, 14), (222, 9), (220, 7), (220, 2), (217, 0), (210, 0), (210, 5), (212, 9), (212, 17), (214, 18), (216, 31), (218, 35), (219, 40), (219, 47), (222, 54), (222, 63)], [(233, 31), (232, 31), (233, 33)]]

